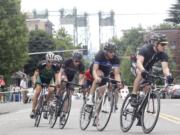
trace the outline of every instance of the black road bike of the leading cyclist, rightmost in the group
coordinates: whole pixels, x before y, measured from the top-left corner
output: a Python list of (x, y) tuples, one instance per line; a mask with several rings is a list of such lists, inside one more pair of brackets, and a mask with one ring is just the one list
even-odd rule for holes
[(123, 132), (131, 129), (135, 119), (140, 122), (138, 124), (141, 124), (144, 133), (148, 134), (154, 129), (160, 113), (160, 95), (164, 89), (156, 86), (159, 79), (165, 80), (164, 77), (150, 74), (147, 82), (141, 85), (140, 91), (144, 94), (137, 95), (137, 107), (132, 107), (130, 104), (131, 94), (124, 99), (120, 111), (120, 128)]

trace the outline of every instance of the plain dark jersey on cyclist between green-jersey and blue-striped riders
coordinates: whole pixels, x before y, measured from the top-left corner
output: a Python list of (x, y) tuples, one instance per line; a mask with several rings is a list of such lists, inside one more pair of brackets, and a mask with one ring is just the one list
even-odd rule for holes
[(75, 66), (72, 58), (66, 60), (62, 68), (64, 69), (68, 81), (72, 81), (77, 72), (79, 72), (80, 74), (84, 74), (84, 70), (85, 70), (85, 66), (82, 62), (80, 62), (78, 66)]

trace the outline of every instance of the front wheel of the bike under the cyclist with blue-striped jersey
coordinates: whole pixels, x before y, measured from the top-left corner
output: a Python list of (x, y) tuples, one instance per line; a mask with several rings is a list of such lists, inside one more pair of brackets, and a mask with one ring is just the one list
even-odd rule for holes
[(99, 108), (97, 108), (99, 110), (99, 115), (97, 116), (98, 120), (96, 123), (98, 131), (103, 131), (106, 128), (113, 111), (113, 104), (114, 96), (112, 92), (108, 91), (102, 97)]

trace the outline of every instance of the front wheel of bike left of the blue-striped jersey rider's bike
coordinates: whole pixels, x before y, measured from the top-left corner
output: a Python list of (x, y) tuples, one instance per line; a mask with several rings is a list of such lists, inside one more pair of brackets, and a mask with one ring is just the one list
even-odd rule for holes
[(59, 116), (59, 128), (63, 129), (67, 123), (67, 120), (69, 118), (69, 114), (71, 111), (71, 96), (68, 95), (68, 93), (65, 93), (62, 109), (60, 111)]

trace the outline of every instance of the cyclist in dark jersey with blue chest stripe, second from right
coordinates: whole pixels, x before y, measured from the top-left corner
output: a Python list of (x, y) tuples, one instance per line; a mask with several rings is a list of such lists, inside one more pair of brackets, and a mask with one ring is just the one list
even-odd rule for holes
[[(119, 74), (120, 59), (115, 54), (115, 50), (116, 46), (113, 43), (106, 43), (104, 46), (104, 50), (97, 53), (94, 62), (90, 66), (89, 72), (93, 80), (91, 79), (92, 86), (90, 88), (90, 94), (88, 96), (88, 105), (93, 105), (92, 97), (97, 88), (97, 83), (101, 83), (101, 85), (104, 86), (107, 80), (104, 80), (101, 77), (108, 77), (112, 69), (115, 80), (121, 82), (121, 77)], [(122, 87), (121, 83), (118, 84), (118, 87)]]

